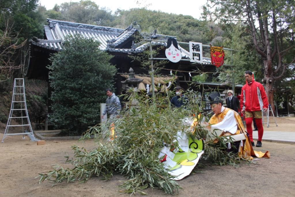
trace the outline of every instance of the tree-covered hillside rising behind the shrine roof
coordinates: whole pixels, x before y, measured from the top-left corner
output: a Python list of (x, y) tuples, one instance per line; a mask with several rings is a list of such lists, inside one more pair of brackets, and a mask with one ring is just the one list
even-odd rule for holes
[(152, 11), (146, 8), (118, 9), (115, 13), (111, 13), (104, 8), (100, 9), (99, 5), (91, 1), (56, 4), (51, 10), (39, 6), (38, 10), (44, 18), (122, 29), (137, 21), (144, 31), (152, 32), (157, 29), (159, 33), (177, 36), (182, 42), (195, 40), (209, 43), (215, 37), (222, 36), (224, 32), (222, 27), (214, 22), (203, 22), (191, 16)]

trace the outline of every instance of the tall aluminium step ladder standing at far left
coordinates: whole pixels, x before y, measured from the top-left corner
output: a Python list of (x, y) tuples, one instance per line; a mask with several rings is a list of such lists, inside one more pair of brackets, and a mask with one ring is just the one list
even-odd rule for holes
[[(19, 112), (19, 113), (18, 113)], [(13, 117), (15, 115), (16, 117)], [(21, 120), (21, 124), (12, 125), (12, 119)], [(22, 127), (22, 133), (8, 133), (10, 127)], [(24, 127), (28, 127), (29, 131), (24, 130)], [(31, 126), (31, 122), (28, 115), (27, 103), (26, 103), (26, 95), (24, 92), (24, 79), (23, 78), (15, 78), (14, 79), (14, 87), (13, 87), (13, 95), (10, 113), (7, 121), (7, 125), (5, 128), (4, 136), (2, 142), (8, 135), (23, 135), (22, 139), (24, 139), (24, 135), (28, 135), (31, 141), (37, 141)], [(2, 143), (1, 142), (1, 143)]]

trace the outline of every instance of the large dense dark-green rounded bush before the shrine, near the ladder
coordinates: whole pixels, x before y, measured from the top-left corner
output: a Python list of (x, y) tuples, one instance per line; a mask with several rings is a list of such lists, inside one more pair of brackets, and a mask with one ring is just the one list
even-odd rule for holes
[(99, 104), (106, 99), (104, 90), (113, 84), (116, 68), (109, 63), (112, 56), (101, 51), (99, 45), (76, 34), (50, 58), (53, 115), (49, 121), (70, 135), (81, 134), (99, 123)]

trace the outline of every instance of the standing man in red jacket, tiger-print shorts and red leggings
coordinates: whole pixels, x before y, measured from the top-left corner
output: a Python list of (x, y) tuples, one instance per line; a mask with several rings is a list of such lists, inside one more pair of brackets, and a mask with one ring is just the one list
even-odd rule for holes
[(258, 128), (258, 141), (256, 147), (261, 147), (263, 136), (262, 110), (267, 111), (268, 101), (262, 84), (253, 80), (252, 72), (246, 71), (245, 79), (247, 83), (242, 87), (240, 109), (242, 109), (241, 113), (245, 113), (247, 132), (252, 146), (255, 146), (252, 130), (253, 117), (255, 118)]

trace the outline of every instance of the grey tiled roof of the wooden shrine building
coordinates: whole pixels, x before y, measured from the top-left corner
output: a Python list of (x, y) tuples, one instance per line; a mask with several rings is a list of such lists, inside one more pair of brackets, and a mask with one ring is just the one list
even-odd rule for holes
[[(99, 48), (101, 50), (107, 50), (110, 52), (122, 52), (122, 53), (140, 53), (146, 50), (150, 46), (150, 43), (134, 44), (131, 48), (122, 48), (120, 45), (128, 40), (135, 32), (140, 32), (140, 27), (136, 23), (131, 24), (126, 29), (119, 29), (113, 27), (103, 27), (98, 25), (89, 25), (81, 23), (73, 23), (66, 21), (58, 21), (47, 19), (49, 25), (44, 25), (44, 33), (46, 40), (34, 39), (30, 40), (33, 45), (39, 47), (47, 48), (49, 50), (59, 51), (62, 50), (62, 42), (68, 35), (81, 34), (86, 38), (93, 38), (101, 42)], [(145, 38), (144, 35), (142, 37)], [(154, 35), (158, 40), (163, 40), (163, 42), (152, 41), (153, 45), (166, 46), (167, 35), (156, 34)], [(122, 45), (121, 45), (122, 46)], [(189, 52), (178, 46), (182, 53), (182, 59), (189, 59)], [(210, 58), (203, 58), (203, 63), (211, 64)]]

